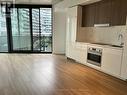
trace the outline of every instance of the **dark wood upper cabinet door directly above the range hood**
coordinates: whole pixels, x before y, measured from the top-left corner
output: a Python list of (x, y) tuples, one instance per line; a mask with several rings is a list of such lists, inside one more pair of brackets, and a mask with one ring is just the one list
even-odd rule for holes
[(102, 0), (96, 3), (95, 24), (110, 24), (111, 0)]

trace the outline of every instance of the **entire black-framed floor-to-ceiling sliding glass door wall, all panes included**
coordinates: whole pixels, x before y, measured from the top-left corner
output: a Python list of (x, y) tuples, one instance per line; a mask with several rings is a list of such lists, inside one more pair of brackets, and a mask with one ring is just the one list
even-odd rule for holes
[[(8, 15), (2, 15), (2, 9)], [(16, 5), (2, 9), (0, 52), (52, 52), (51, 6)]]

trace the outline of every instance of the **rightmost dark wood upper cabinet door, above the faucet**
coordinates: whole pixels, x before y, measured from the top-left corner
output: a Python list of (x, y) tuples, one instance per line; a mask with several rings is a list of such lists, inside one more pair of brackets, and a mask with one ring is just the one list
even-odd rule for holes
[(127, 0), (112, 0), (111, 25), (126, 25)]

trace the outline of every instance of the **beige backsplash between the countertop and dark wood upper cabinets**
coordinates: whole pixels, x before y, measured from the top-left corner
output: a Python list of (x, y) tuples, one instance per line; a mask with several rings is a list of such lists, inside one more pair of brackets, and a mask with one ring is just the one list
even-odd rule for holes
[(119, 35), (122, 34), (124, 38), (124, 33), (127, 32), (126, 29), (127, 26), (84, 27), (78, 31), (77, 41), (120, 45)]

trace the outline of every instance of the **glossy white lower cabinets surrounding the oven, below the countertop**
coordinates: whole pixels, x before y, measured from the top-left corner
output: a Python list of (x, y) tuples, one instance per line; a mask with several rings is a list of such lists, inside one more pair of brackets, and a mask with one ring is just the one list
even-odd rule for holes
[(101, 67), (91, 65), (87, 63), (87, 44), (83, 43), (68, 43), (66, 48), (66, 56), (87, 66), (101, 70), (107, 74), (121, 77), (121, 67), (122, 67), (122, 55), (123, 50), (120, 48), (106, 48), (103, 47), (102, 53), (102, 64)]

